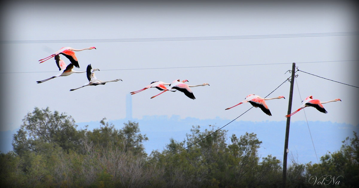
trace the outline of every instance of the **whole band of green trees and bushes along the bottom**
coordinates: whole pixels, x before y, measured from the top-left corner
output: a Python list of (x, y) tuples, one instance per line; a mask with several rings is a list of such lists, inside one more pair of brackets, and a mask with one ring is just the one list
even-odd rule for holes
[[(1, 187), (281, 187), (282, 163), (258, 157), (262, 142), (254, 133), (228, 138), (219, 130), (182, 149), (216, 130), (193, 126), (186, 140), (171, 139), (163, 151), (147, 155), (148, 138), (136, 122), (116, 129), (103, 119), (97, 129), (76, 128), (66, 113), (28, 113), (13, 136), (14, 150), (0, 154)], [(287, 187), (356, 187), (358, 155), (354, 132), (320, 164), (292, 158)]]

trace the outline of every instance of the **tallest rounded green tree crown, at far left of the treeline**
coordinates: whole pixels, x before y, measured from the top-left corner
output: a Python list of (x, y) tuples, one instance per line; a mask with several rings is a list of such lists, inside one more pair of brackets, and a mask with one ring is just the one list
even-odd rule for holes
[(59, 146), (65, 151), (78, 149), (83, 131), (76, 130), (75, 120), (66, 113), (34, 108), (23, 119), (23, 124), (14, 134), (15, 153), (43, 152)]

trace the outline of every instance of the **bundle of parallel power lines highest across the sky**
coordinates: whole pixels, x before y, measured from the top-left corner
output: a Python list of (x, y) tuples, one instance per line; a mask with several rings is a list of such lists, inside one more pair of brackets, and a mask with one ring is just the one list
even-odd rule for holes
[(301, 34), (283, 34), (283, 35), (208, 36), (208, 37), (169, 37), (169, 38), (142, 38), (142, 39), (138, 38), (138, 39), (83, 39), (83, 40), (9, 40), (9, 41), (0, 41), (0, 44), (269, 39), (269, 38), (347, 36), (347, 35), (359, 35), (359, 32), (301, 33)]

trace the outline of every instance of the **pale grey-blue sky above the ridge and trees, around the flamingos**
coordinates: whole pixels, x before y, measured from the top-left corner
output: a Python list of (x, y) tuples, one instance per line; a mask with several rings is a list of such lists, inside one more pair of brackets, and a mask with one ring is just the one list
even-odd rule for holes
[[(23, 117), (34, 107), (66, 112), (76, 122), (99, 121), (104, 117), (122, 119), (126, 116), (126, 95), (131, 91), (142, 89), (152, 81), (171, 83), (177, 79), (188, 80), (190, 85), (209, 83), (210, 86), (192, 88), (195, 100), (180, 92), (166, 92), (150, 99), (160, 93), (157, 89), (132, 95), (132, 116), (137, 119), (153, 115), (234, 119), (250, 108), (250, 104), (225, 108), (238, 104), (248, 94), (266, 97), (274, 91), (269, 98), (284, 96), (285, 99), (267, 101), (272, 116), (252, 109), (238, 120), (285, 121), (290, 84), (287, 81), (276, 88), (290, 77), (287, 71), (292, 69), (292, 63), (301, 71), (359, 86), (357, 10), (357, 4), (351, 1), (89, 1), (73, 2), (71, 6), (45, 2), (3, 3), (0, 131), (18, 129)], [(356, 34), (338, 34), (349, 32)], [(319, 36), (302, 35), (318, 33)], [(323, 36), (322, 33), (337, 34)], [(281, 36), (270, 37), (272, 35)], [(255, 37), (219, 38), (228, 36)], [(207, 37), (207, 40), (185, 37)], [(208, 37), (216, 38), (208, 40)], [(40, 42), (34, 42), (38, 40)], [(95, 72), (98, 79), (123, 81), (69, 91), (87, 82), (85, 73), (74, 73), (37, 84), (36, 81), (58, 72), (52, 59), (41, 64), (38, 60), (65, 46), (75, 49), (95, 46), (93, 50), (76, 52), (80, 68), (75, 70), (85, 70), (87, 64), (92, 64), (100, 70)], [(336, 98), (342, 101), (325, 104), (327, 114), (306, 108), (305, 115), (298, 112), (291, 121), (307, 119), (359, 126), (358, 88), (300, 71), (296, 75), (292, 112), (309, 95), (322, 101)], [(153, 126), (155, 129), (155, 124)], [(343, 131), (351, 135), (350, 131)]]

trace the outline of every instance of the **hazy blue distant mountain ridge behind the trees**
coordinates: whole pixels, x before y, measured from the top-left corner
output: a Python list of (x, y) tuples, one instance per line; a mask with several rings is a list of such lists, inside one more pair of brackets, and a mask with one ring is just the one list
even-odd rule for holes
[[(128, 122), (129, 119), (108, 120), (117, 129), (123, 127), (123, 123)], [(221, 119), (216, 117), (214, 119), (200, 120), (197, 118), (187, 117), (181, 119), (180, 116), (144, 116), (142, 119), (130, 119), (130, 121), (138, 122), (141, 134), (146, 134), (149, 138), (144, 143), (146, 152), (148, 154), (153, 150), (162, 151), (169, 139), (173, 138), (177, 141), (186, 139), (186, 134), (191, 133), (192, 125), (199, 125), (200, 130), (208, 129), (208, 125), (215, 127), (223, 127), (232, 120)], [(88, 125), (88, 130), (98, 128), (100, 123), (98, 121), (78, 122), (78, 128), (81, 129)], [(353, 131), (358, 131), (358, 126), (350, 124), (339, 124), (330, 121), (309, 121), (310, 133), (313, 138), (313, 143), (318, 156), (325, 155), (328, 151), (334, 152), (340, 149), (342, 143), (347, 136), (352, 137)], [(306, 121), (291, 122), (289, 131), (289, 154), (288, 157), (293, 156), (297, 162), (302, 164), (312, 161), (317, 163), (316, 153), (314, 152), (312, 139), (309, 134), (309, 129)], [(260, 157), (267, 155), (276, 156), (279, 160), (283, 160), (284, 152), (284, 137), (285, 137), (285, 121), (233, 121), (227, 126), (223, 127), (227, 130), (228, 139), (232, 134), (237, 137), (244, 133), (255, 133), (257, 138), (263, 143), (259, 149)], [(8, 152), (12, 150), (11, 142), (12, 135), (17, 130), (0, 132), (1, 138), (1, 152)], [(228, 143), (230, 140), (228, 140)], [(288, 158), (290, 163), (290, 158)]]

